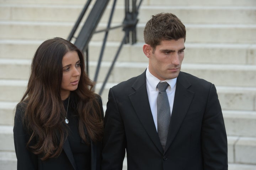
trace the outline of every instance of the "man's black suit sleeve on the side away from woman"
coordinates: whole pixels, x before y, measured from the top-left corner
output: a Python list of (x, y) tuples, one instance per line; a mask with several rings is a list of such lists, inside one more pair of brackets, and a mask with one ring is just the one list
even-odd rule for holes
[(206, 111), (202, 122), (202, 152), (204, 169), (228, 169), (228, 144), (222, 109), (215, 86), (209, 90)]

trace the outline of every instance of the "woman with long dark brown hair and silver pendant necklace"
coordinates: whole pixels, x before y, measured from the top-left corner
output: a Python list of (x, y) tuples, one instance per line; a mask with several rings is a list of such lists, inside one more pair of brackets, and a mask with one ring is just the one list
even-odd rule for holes
[(28, 86), (17, 104), (14, 144), (18, 170), (98, 170), (103, 108), (84, 57), (62, 38), (37, 49)]

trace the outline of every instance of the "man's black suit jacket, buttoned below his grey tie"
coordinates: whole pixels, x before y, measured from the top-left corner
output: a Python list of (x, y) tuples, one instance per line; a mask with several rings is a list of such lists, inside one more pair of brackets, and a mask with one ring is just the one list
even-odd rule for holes
[(146, 73), (109, 91), (102, 170), (227, 170), (227, 138), (215, 86), (180, 72), (165, 150), (146, 90)]

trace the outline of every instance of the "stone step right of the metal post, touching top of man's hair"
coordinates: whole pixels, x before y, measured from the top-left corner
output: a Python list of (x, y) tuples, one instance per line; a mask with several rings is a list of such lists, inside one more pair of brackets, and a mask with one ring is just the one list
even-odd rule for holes
[[(174, 5), (151, 5), (142, 6), (139, 10), (140, 22), (147, 22), (151, 15), (171, 11), (183, 23), (255, 23), (256, 6), (174, 6)], [(209, 19), (211, 18), (211, 19)], [(239, 23), (238, 19), (245, 20)]]

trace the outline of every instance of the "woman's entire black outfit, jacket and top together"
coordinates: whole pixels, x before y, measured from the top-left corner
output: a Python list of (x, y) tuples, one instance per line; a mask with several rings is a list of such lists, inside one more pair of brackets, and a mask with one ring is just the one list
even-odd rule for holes
[[(64, 106), (67, 107), (68, 100), (63, 101)], [(65, 103), (66, 102), (66, 103)], [(100, 96), (98, 102), (101, 106), (100, 116), (103, 119), (103, 108)], [(49, 158), (45, 161), (41, 160), (43, 155), (37, 155), (31, 152), (29, 147), (26, 147), (28, 140), (31, 137), (31, 131), (23, 125), (22, 119), (26, 110), (26, 102), (17, 104), (15, 118), (14, 118), (14, 146), (17, 157), (17, 170), (100, 170), (101, 169), (101, 141), (93, 142), (87, 137), (91, 145), (85, 144), (82, 141), (78, 131), (78, 116), (75, 111), (78, 101), (75, 95), (70, 93), (68, 119), (69, 124), (66, 126), (68, 130), (68, 138), (63, 143), (63, 151), (56, 158)], [(64, 113), (66, 114), (66, 113)], [(72, 116), (71, 116), (72, 115)], [(63, 124), (65, 124), (63, 118)], [(65, 124), (66, 125), (66, 124)], [(84, 126), (86, 132), (86, 128)], [(56, 134), (59, 138), (59, 134)], [(57, 139), (56, 139), (57, 140)], [(30, 143), (30, 146), (36, 145), (36, 137)], [(79, 148), (79, 149), (78, 149)]]

